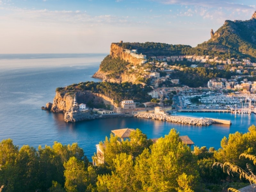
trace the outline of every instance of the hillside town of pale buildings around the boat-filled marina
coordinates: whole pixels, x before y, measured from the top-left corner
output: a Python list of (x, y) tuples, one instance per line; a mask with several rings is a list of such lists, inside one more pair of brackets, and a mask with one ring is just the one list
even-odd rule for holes
[[(142, 54), (139, 57), (137, 50), (126, 49), (124, 52), (132, 54), (136, 58), (141, 57), (140, 59), (143, 60), (146, 58)], [(186, 65), (182, 65), (182, 62), (183, 64), (186, 62)], [(166, 100), (173, 101), (172, 108), (169, 111), (185, 108), (227, 109), (227, 106), (231, 106), (234, 109), (238, 105), (240, 105), (240, 108), (243, 108), (241, 104), (244, 102), (244, 105), (246, 105), (246, 100), (250, 100), (250, 102), (255, 102), (256, 100), (256, 81), (248, 80), (256, 74), (256, 63), (251, 62), (249, 59), (220, 59), (219, 57), (210, 57), (209, 55), (178, 55), (152, 56), (147, 63), (142, 63), (141, 67), (144, 72), (142, 75), (144, 78), (149, 79), (150, 86), (153, 88), (153, 91), (148, 92), (148, 95), (159, 101), (157, 103), (158, 106), (152, 102), (145, 103), (145, 107), (155, 107), (155, 110), (147, 110), (147, 112), (164, 113), (165, 111), (162, 108)], [(132, 67), (133, 70), (136, 70), (136, 68), (138, 69), (139, 67)], [(180, 84), (180, 79), (173, 78), (173, 74), (177, 71), (184, 71), (187, 68), (215, 69), (217, 71), (228, 71), (233, 75), (230, 78), (215, 77), (209, 79), (206, 86), (195, 88), (182, 85)], [(166, 86), (164, 82), (169, 82), (171, 86)], [(222, 97), (218, 99), (220, 94)], [(205, 99), (207, 97), (214, 97), (215, 99)], [(200, 106), (191, 102), (190, 98), (197, 98)], [(158, 109), (158, 107), (162, 108)], [(252, 107), (254, 107), (252, 104), (250, 109), (247, 106), (248, 113), (251, 113)]]

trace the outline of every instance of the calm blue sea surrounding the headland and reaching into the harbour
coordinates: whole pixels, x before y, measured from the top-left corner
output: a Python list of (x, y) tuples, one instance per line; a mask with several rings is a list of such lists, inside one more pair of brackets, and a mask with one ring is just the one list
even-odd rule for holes
[(78, 143), (92, 161), (96, 144), (111, 130), (139, 128), (148, 138), (164, 137), (172, 128), (188, 135), (195, 146), (220, 148), (221, 139), (236, 131), (245, 133), (256, 124), (255, 114), (176, 113), (173, 115), (231, 120), (232, 125), (193, 126), (138, 118), (97, 119), (65, 123), (63, 114), (42, 110), (52, 102), (57, 87), (100, 81), (92, 78), (107, 53), (0, 54), (0, 141), (11, 138), (19, 147)]

